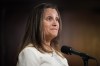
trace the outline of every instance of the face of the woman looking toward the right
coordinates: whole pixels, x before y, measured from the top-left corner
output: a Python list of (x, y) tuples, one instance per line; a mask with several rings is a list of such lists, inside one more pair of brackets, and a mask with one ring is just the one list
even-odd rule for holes
[(45, 38), (53, 39), (59, 30), (59, 16), (55, 9), (46, 8), (43, 13), (43, 31)]

